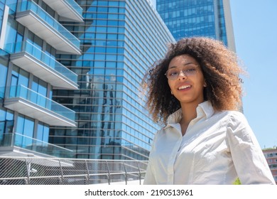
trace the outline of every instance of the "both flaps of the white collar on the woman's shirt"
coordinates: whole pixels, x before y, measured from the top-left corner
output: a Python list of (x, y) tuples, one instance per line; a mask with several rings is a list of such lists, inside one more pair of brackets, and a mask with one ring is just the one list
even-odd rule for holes
[[(210, 101), (205, 101), (201, 104), (198, 104), (196, 112), (197, 118), (206, 117), (206, 119), (208, 119), (214, 114), (214, 108), (212, 107), (212, 103)], [(170, 116), (168, 117), (168, 124), (179, 123), (181, 119), (182, 109), (178, 109), (177, 111), (173, 112), (173, 114), (170, 114)], [(166, 125), (165, 127), (167, 126), (168, 125)]]

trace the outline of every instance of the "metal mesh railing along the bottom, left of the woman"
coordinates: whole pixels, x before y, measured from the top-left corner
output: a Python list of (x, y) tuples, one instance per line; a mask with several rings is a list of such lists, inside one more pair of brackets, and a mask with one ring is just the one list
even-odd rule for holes
[(88, 185), (138, 181), (148, 161), (0, 157), (0, 185)]

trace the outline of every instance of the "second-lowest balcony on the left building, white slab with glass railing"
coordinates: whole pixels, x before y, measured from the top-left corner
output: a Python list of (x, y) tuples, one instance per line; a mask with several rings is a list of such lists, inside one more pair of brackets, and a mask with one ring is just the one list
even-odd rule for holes
[(6, 91), (4, 107), (50, 126), (76, 127), (75, 112), (23, 85)]

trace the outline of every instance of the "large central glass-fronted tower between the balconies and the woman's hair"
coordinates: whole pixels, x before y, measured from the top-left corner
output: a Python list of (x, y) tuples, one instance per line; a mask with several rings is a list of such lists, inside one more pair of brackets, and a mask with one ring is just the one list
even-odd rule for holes
[(148, 1), (76, 1), (84, 23), (63, 22), (82, 55), (59, 55), (79, 90), (53, 90), (76, 113), (77, 127), (50, 127), (49, 141), (75, 158), (147, 160), (160, 127), (145, 109), (141, 80), (174, 41)]

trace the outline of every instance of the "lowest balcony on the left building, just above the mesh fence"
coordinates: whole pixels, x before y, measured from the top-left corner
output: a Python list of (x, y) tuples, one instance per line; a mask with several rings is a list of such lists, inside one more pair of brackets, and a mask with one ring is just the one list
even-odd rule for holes
[(73, 151), (18, 133), (0, 135), (0, 154), (72, 158)]

